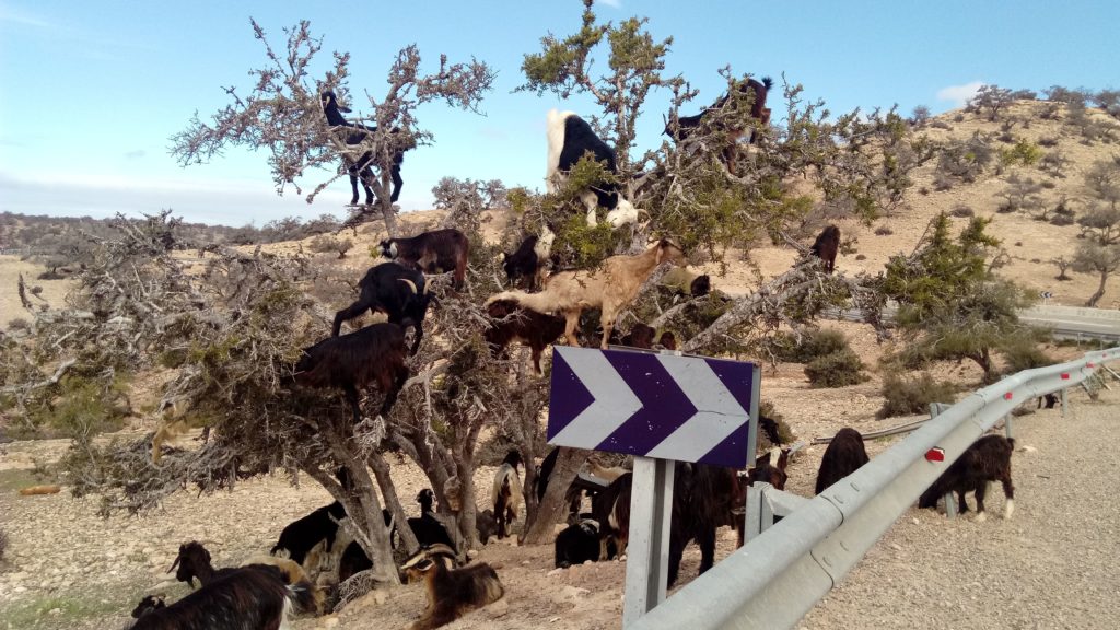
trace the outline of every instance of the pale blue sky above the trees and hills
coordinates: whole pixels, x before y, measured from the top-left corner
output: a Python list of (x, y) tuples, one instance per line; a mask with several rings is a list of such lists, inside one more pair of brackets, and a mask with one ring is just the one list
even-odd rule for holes
[[(308, 205), (290, 187), (276, 194), (264, 154), (231, 150), (187, 168), (168, 154), (168, 138), (196, 110), (208, 118), (226, 104), (222, 86), (248, 92), (248, 71), (264, 64), (250, 17), (279, 47), (282, 28), (310, 20), (324, 64), (332, 50), (349, 52), (356, 110), (364, 91), (384, 93), (395, 53), (412, 43), (427, 70), (446, 53), (497, 71), (485, 117), (420, 110), (436, 143), (407, 155), (404, 210), (430, 207), (442, 176), (543, 188), (545, 112), (589, 112), (590, 102), (511, 91), (523, 82), (523, 55), (539, 52), (549, 31), (575, 31), (580, 10), (579, 0), (0, 0), (0, 211), (110, 216), (170, 207), (188, 221), (232, 225), (345, 215), (345, 179)], [(719, 95), (717, 70), (727, 64), (756, 76), (784, 72), (837, 112), (897, 103), (904, 114), (920, 104), (936, 113), (982, 83), (1120, 87), (1114, 0), (612, 0), (596, 10), (604, 20), (645, 16), (654, 37), (673, 36), (666, 72), (701, 90), (696, 110)], [(661, 141), (668, 102), (666, 93), (647, 101), (641, 148)], [(328, 176), (308, 177), (305, 192)]]

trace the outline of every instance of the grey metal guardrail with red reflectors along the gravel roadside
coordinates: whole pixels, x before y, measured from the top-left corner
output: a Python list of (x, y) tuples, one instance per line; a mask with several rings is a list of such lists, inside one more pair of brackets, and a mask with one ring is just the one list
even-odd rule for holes
[[(1024, 400), (1077, 386), (1120, 348), (974, 391), (697, 577), (627, 630), (792, 628), (950, 463)], [(940, 446), (944, 462), (925, 453)]]

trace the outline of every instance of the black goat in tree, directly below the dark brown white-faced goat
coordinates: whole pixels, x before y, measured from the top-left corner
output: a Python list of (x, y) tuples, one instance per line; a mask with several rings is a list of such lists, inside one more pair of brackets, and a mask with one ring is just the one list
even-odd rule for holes
[(358, 296), (354, 304), (335, 313), (330, 336), (338, 336), (343, 322), (353, 319), (368, 309), (389, 315), (389, 322), (401, 328), (412, 327), (414, 337), (410, 354), (416, 354), (423, 339), (423, 318), (428, 314), (431, 296), (423, 274), (395, 262), (371, 267), (358, 281)]

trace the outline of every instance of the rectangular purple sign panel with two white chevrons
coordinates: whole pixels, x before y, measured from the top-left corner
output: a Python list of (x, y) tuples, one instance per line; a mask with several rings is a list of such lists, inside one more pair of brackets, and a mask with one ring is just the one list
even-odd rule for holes
[(549, 443), (743, 469), (758, 386), (754, 363), (558, 345)]

